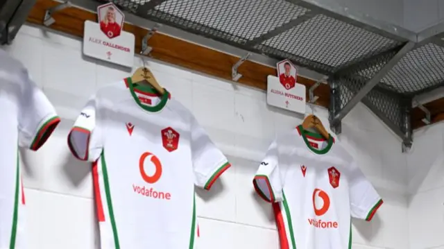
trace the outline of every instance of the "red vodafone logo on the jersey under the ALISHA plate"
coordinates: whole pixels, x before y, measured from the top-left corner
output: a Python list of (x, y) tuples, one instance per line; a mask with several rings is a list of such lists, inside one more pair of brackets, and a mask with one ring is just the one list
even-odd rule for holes
[(309, 225), (316, 228), (338, 228), (337, 221), (323, 221), (318, 216), (323, 216), (330, 209), (330, 196), (322, 189), (313, 191), (313, 209), (316, 218), (308, 218)]

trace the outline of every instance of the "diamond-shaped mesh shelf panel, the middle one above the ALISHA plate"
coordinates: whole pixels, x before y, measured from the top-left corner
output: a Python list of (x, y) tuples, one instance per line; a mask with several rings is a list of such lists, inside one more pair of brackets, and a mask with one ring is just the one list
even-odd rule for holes
[(327, 65), (334, 71), (350, 61), (391, 49), (399, 43), (325, 15), (316, 15), (262, 45)]

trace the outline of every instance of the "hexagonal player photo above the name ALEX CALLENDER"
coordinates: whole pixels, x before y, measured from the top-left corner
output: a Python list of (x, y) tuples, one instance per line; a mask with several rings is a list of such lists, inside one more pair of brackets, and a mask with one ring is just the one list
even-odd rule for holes
[(97, 7), (97, 15), (101, 31), (112, 39), (118, 37), (123, 28), (125, 16), (113, 3), (106, 3)]

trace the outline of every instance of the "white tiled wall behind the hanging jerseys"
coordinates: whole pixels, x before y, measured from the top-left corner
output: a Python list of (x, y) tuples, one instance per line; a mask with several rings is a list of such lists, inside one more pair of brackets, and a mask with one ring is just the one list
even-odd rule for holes
[[(24, 62), (63, 119), (40, 151), (22, 151), (31, 249), (97, 248), (89, 166), (69, 155), (66, 136), (88, 96), (130, 71), (83, 58), (79, 40), (31, 26), (24, 26), (6, 49)], [(271, 207), (253, 193), (251, 180), (275, 132), (294, 128), (301, 117), (268, 107), (263, 91), (148, 63), (157, 80), (194, 112), (233, 164), (212, 191), (198, 191), (199, 248), (277, 249)], [(141, 64), (136, 58), (135, 67)], [(315, 109), (328, 127), (327, 111)], [(407, 220), (407, 164), (400, 141), (361, 104), (343, 120), (339, 140), (350, 148), (385, 202), (372, 222), (353, 221), (353, 248), (409, 248), (409, 225), (410, 232), (420, 231)], [(436, 151), (443, 146), (439, 141)], [(422, 188), (439, 194), (436, 185)], [(419, 207), (424, 198), (411, 202)], [(432, 220), (426, 223), (436, 225)], [(434, 245), (442, 239), (426, 237)]]

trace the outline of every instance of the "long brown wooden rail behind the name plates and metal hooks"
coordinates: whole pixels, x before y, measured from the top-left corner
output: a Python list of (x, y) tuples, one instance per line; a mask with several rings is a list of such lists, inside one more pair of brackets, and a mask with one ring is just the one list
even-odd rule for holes
[[(60, 2), (53, 0), (37, 0), (28, 16), (27, 22), (43, 25), (45, 10), (58, 4)], [(77, 37), (83, 37), (84, 22), (86, 20), (96, 22), (96, 13), (72, 7), (53, 13), (53, 18), (56, 19), (56, 22), (49, 28)], [(137, 53), (141, 51), (142, 37), (147, 33), (146, 28), (126, 23), (123, 26), (123, 30), (135, 35), (135, 51)], [(148, 46), (153, 48), (150, 54), (151, 58), (225, 80), (231, 80), (232, 65), (239, 60), (239, 58), (233, 55), (162, 33), (155, 33), (148, 40)], [(267, 76), (276, 75), (274, 67), (268, 67), (248, 60), (239, 67), (238, 71), (243, 75), (239, 79), (239, 83), (263, 90), (266, 90)], [(298, 76), (298, 83), (307, 87), (308, 100), (309, 87), (314, 85), (315, 81)], [(330, 87), (327, 84), (321, 84), (315, 89), (314, 94), (319, 96), (315, 104), (328, 108), (330, 104)]]

